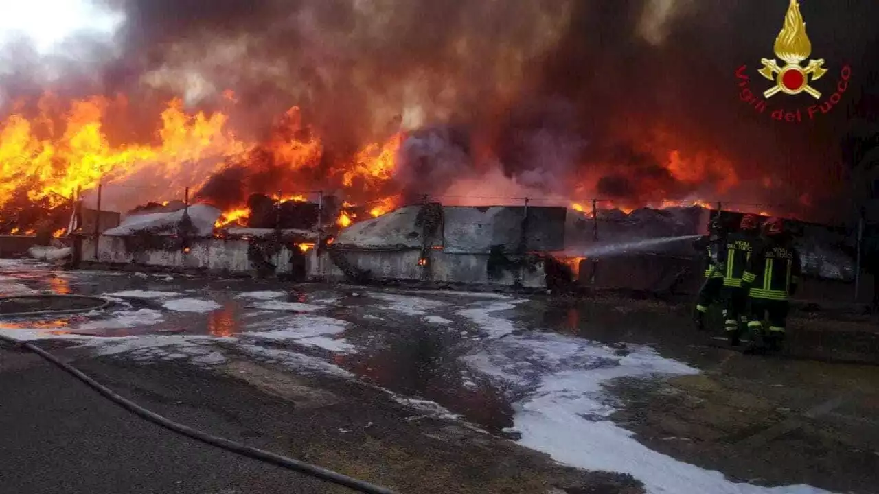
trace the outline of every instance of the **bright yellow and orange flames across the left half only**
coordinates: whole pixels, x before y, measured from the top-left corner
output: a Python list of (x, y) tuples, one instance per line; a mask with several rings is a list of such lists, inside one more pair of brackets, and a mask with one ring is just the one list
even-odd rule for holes
[[(227, 98), (234, 100), (230, 91)], [(61, 118), (52, 113), (56, 106), (52, 103), (52, 95), (46, 95), (36, 115), (27, 118), (16, 112), (0, 121), (0, 176), (4, 178), (0, 182), (0, 212), (4, 220), (28, 203), (50, 209), (69, 207), (74, 197), (93, 192), (98, 185), (147, 183), (149, 201), (168, 204), (184, 198), (187, 188), (197, 193), (230, 163), (245, 163), (245, 170), (258, 169), (264, 157), (259, 153), (265, 150), (273, 163), (284, 163), (290, 172), (319, 163), (323, 155), (318, 138), (301, 135), (304, 126), (296, 107), (283, 115), (280, 128), (266, 142), (243, 142), (229, 127), (226, 114), (190, 113), (179, 99), (172, 99), (161, 113), (155, 143), (141, 144), (111, 143), (105, 133), (107, 109), (117, 101), (74, 101)], [(369, 144), (351, 159), (336, 163), (332, 170), (342, 187), (371, 193), (373, 216), (388, 212), (399, 199), (396, 194), (381, 195), (381, 191), (395, 169), (396, 151), (402, 141), (402, 134), (394, 134), (386, 143)], [(301, 190), (301, 182), (296, 185)], [(281, 184), (279, 188), (283, 191), (289, 185)], [(278, 204), (314, 200), (303, 193), (245, 192), (266, 193)], [(217, 227), (243, 225), (248, 219), (251, 212), (247, 205), (241, 200), (234, 202), (223, 208)], [(339, 226), (350, 225), (355, 216), (343, 211)], [(10, 223), (6, 233), (18, 233), (22, 226)], [(60, 233), (54, 230), (55, 236)]]

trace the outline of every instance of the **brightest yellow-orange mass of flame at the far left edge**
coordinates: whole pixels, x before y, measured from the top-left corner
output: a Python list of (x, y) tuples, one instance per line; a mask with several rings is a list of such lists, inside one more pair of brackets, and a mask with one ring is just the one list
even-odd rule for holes
[(186, 185), (200, 186), (194, 178), (203, 182), (219, 170), (224, 156), (247, 149), (224, 131), (226, 115), (187, 114), (178, 99), (162, 113), (160, 144), (113, 147), (102, 130), (110, 104), (105, 98), (74, 101), (57, 139), (51, 138), (56, 133), (45, 113), (33, 121), (13, 114), (0, 123), (0, 207), (18, 190), (27, 190), (30, 200), (47, 199), (57, 206), (62, 199), (54, 194), (69, 197), (79, 188), (88, 191), (99, 182), (120, 182), (144, 171), (162, 184), (154, 200), (175, 199)]

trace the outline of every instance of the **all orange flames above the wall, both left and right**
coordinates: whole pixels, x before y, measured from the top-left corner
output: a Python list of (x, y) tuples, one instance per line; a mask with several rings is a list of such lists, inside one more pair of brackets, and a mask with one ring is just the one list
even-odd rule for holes
[[(230, 91), (226, 98), (236, 101)], [(127, 101), (88, 98), (73, 101), (58, 113), (56, 99), (46, 95), (37, 105), (37, 112), (13, 112), (0, 121), (0, 173), (4, 178), (0, 182), (0, 216), (4, 220), (0, 222), (0, 233), (48, 228), (54, 236), (62, 236), (65, 230), (59, 224), (8, 220), (17, 217), (27, 204), (49, 209), (69, 207), (74, 197), (93, 193), (99, 185), (148, 184), (152, 187), (149, 201), (164, 204), (181, 200), (185, 191), (192, 191), (190, 197), (195, 200), (207, 200), (222, 208), (217, 228), (246, 225), (251, 215), (246, 203), (249, 193), (262, 193), (272, 197), (275, 204), (283, 204), (316, 202), (314, 193), (318, 190), (340, 192), (356, 204), (345, 202), (338, 208), (338, 228), (386, 214), (401, 204), (403, 196), (393, 181), (405, 139), (403, 132), (391, 134), (385, 142), (370, 143), (351, 156), (336, 158), (325, 167), (323, 143), (303, 124), (297, 107), (281, 116), (268, 138), (247, 142), (233, 132), (227, 114), (190, 112), (181, 100), (172, 99), (161, 112), (153, 142), (134, 143), (111, 139), (107, 134), (108, 110), (120, 104)], [(625, 200), (603, 200), (598, 207), (630, 212), (642, 206), (679, 206), (679, 201), (666, 200), (675, 194), (670, 189), (673, 184), (697, 184), (706, 177), (718, 176), (722, 179), (714, 182), (721, 187), (737, 182), (730, 163), (685, 160), (676, 149), (665, 156), (665, 160), (659, 160), (662, 173), (618, 172), (608, 162), (606, 168), (614, 170), (612, 178), (623, 183), (632, 179), (628, 175), (647, 175), (638, 179), (650, 182), (650, 193), (647, 197), (636, 194)], [(237, 191), (234, 197), (204, 193), (212, 178), (233, 168), (241, 172), (234, 180), (235, 187), (246, 190)], [(265, 177), (251, 179), (259, 172), (265, 172)], [(571, 191), (594, 194), (602, 187), (613, 188), (614, 181), (608, 182), (607, 177), (607, 170), (601, 175), (572, 177), (577, 185)], [(305, 192), (309, 189), (311, 196)], [(687, 205), (714, 206), (703, 200), (689, 200)], [(591, 201), (570, 202), (568, 206), (592, 214)]]

